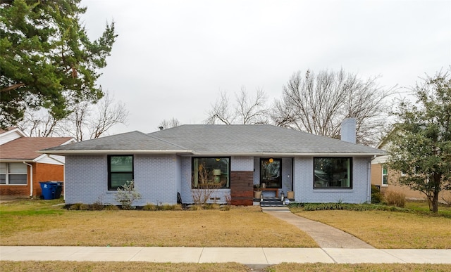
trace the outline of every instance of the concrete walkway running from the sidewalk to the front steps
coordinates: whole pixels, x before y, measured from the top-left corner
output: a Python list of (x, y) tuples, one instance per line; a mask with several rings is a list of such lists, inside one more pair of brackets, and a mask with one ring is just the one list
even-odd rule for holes
[(322, 248), (374, 248), (337, 228), (292, 214), (287, 207), (261, 207), (261, 209), (266, 214), (271, 214), (280, 220), (297, 226), (301, 231), (310, 235)]

